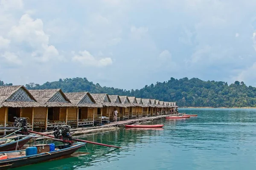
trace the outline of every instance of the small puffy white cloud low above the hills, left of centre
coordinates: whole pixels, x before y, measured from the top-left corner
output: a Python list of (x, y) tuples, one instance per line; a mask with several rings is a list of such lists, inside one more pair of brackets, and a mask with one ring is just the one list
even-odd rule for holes
[(111, 65), (112, 59), (110, 57), (96, 59), (90, 52), (84, 50), (79, 51), (79, 55), (75, 55), (72, 57), (73, 62), (79, 62), (85, 66), (96, 66), (96, 67), (104, 67), (107, 65)]

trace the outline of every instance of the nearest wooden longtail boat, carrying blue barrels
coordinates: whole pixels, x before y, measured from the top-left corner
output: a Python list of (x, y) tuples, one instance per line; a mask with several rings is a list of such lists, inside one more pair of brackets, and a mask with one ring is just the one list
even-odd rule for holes
[(66, 158), (85, 144), (86, 143), (84, 142), (77, 142), (74, 144), (58, 145), (55, 146), (54, 151), (42, 152), (29, 156), (26, 156), (26, 150), (0, 152), (0, 157), (7, 155), (7, 159), (0, 160), (0, 170)]

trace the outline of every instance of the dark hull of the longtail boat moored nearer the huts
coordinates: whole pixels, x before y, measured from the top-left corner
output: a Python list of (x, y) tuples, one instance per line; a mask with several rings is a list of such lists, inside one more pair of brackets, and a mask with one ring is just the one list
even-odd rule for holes
[(10, 142), (10, 143), (6, 143), (6, 144), (1, 144), (0, 145), (0, 152), (3, 152), (3, 151), (11, 151), (11, 150), (15, 150), (16, 149), (16, 146), (17, 146), (17, 142), (18, 142), (18, 149), (23, 147), (24, 144), (26, 144), (27, 142), (29, 142), (29, 140), (31, 139), (32, 137), (25, 137), (23, 139), (19, 139), (17, 141), (13, 141), (13, 142)]

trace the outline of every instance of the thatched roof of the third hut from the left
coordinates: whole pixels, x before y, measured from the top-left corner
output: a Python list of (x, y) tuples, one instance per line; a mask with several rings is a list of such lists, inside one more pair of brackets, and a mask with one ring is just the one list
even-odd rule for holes
[(71, 103), (78, 107), (101, 108), (88, 92), (64, 93)]

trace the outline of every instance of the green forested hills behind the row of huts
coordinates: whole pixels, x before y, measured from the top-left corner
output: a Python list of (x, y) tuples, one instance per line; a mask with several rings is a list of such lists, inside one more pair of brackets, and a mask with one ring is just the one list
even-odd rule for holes
[[(0, 81), (0, 85), (4, 84)], [(61, 88), (64, 92), (89, 91), (90, 93), (107, 93), (141, 98), (160, 99), (177, 102), (179, 107), (256, 107), (256, 88), (247, 87), (244, 82), (202, 81), (197, 78), (171, 78), (168, 82), (146, 85), (140, 90), (123, 90), (102, 87), (86, 78), (59, 79), (43, 85), (30, 83), (28, 89)]]

